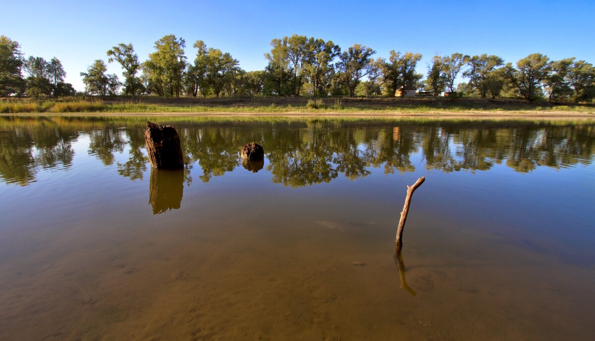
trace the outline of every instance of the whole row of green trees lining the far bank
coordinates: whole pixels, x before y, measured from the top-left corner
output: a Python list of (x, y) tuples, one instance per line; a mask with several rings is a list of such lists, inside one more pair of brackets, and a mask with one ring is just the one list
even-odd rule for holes
[[(96, 60), (83, 77), (90, 95), (179, 96), (394, 96), (411, 87), (438, 96), (475, 95), (523, 97), (528, 101), (591, 102), (595, 98), (595, 68), (584, 60), (550, 60), (530, 54), (515, 65), (497, 55), (435, 55), (427, 74), (416, 71), (422, 55), (390, 51), (389, 58), (374, 58), (376, 51), (353, 44), (342, 50), (331, 40), (302, 35), (271, 41), (264, 54), (264, 70), (245, 71), (228, 52), (207, 48), (202, 40), (193, 47), (193, 60), (186, 57), (186, 40), (166, 35), (157, 40), (148, 60), (139, 61), (131, 43), (107, 51), (108, 62), (123, 70), (123, 82), (107, 73), (103, 60)], [(53, 64), (52, 64), (53, 63)], [(17, 42), (0, 39), (0, 96), (67, 95), (64, 70), (57, 58), (25, 60)], [(27, 77), (21, 76), (25, 72)], [(456, 84), (462, 77), (466, 82)], [(47, 82), (46, 82), (47, 81)]]

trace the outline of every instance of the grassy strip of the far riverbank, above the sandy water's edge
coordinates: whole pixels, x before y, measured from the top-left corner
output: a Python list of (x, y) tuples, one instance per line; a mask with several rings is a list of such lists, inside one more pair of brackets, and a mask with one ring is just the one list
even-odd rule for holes
[(484, 98), (160, 98), (105, 99), (71, 97), (60, 99), (2, 99), (0, 113), (105, 112), (105, 113), (438, 113), (438, 112), (584, 112), (595, 114), (595, 104), (552, 104), (520, 99)]

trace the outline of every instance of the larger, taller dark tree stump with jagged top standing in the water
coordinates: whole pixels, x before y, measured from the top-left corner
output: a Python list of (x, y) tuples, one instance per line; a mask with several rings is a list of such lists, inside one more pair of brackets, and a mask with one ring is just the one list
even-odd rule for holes
[(145, 145), (151, 167), (162, 169), (184, 168), (180, 137), (174, 126), (159, 126), (147, 122)]

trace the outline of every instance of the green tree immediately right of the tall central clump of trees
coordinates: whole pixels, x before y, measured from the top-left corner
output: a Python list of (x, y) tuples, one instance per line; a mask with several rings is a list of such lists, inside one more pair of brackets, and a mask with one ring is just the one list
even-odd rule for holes
[(339, 56), (339, 69), (343, 72), (343, 82), (349, 90), (349, 96), (355, 96), (359, 80), (369, 73), (370, 61), (375, 53), (365, 45), (353, 44)]

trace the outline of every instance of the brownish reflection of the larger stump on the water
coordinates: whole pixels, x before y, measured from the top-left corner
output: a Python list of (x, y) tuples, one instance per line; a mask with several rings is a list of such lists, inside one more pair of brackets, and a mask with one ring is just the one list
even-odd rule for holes
[(149, 204), (153, 214), (179, 209), (184, 192), (184, 170), (160, 170), (151, 167)]

